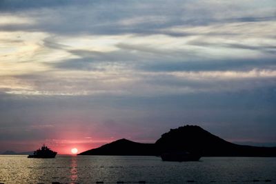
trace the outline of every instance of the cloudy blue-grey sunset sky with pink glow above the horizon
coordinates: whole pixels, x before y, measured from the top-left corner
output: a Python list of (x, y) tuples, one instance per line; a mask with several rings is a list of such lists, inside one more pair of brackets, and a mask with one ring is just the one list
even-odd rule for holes
[(0, 0), (0, 152), (199, 125), (276, 146), (275, 0)]

